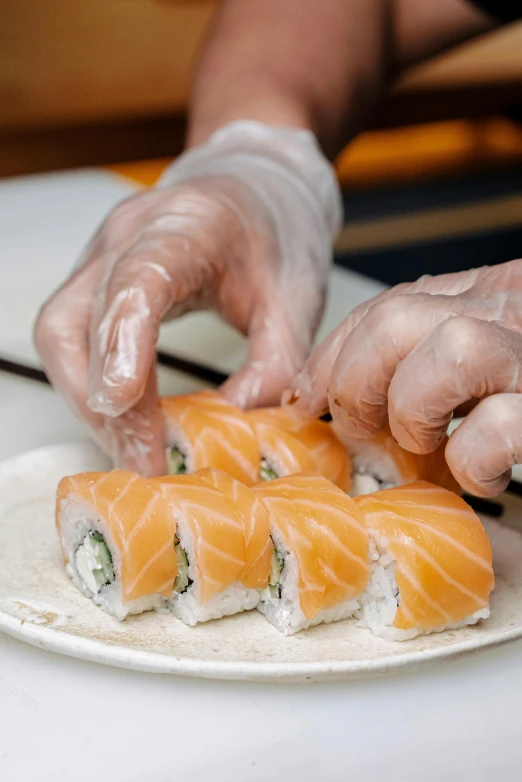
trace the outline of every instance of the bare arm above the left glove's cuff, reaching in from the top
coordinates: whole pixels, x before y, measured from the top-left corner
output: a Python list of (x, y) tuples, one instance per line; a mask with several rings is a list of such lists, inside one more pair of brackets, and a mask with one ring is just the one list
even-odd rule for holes
[(225, 0), (195, 76), (189, 146), (253, 119), (308, 128), (334, 156), (391, 74), (493, 27), (468, 0)]

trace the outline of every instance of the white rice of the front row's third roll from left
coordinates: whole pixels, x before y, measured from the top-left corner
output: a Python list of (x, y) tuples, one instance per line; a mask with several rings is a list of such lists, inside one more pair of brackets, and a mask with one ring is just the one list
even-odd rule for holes
[(266, 619), (283, 635), (293, 635), (299, 630), (319, 624), (339, 622), (349, 619), (360, 608), (359, 600), (345, 600), (332, 608), (319, 611), (312, 619), (307, 619), (299, 602), (299, 564), (296, 557), (289, 551), (281, 533), (272, 528), (272, 540), (284, 565), (281, 571), (281, 597), (270, 597), (269, 591), (264, 591), (257, 606)]

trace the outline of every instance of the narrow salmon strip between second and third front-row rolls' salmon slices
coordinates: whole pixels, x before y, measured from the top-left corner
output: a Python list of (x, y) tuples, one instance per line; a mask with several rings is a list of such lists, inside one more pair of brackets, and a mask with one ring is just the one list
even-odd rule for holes
[(274, 544), (270, 538), (268, 511), (261, 498), (244, 483), (221, 470), (206, 468), (195, 473), (195, 478), (223, 492), (241, 515), (245, 540), (246, 564), (239, 576), (249, 589), (263, 589), (268, 585)]

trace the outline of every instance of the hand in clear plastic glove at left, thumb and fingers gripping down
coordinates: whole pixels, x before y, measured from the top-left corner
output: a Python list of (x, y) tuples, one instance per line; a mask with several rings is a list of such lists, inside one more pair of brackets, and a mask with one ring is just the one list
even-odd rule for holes
[(114, 209), (40, 312), (35, 341), (116, 464), (166, 470), (154, 368), (162, 320), (216, 310), (249, 338), (225, 395), (245, 407), (278, 402), (319, 324), (340, 221), (314, 136), (256, 122), (222, 128)]

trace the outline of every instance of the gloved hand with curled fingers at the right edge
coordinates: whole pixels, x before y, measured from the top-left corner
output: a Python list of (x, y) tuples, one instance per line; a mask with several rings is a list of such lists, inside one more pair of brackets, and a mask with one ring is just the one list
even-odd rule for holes
[[(522, 461), (522, 260), (422, 277), (358, 307), (310, 356), (283, 401), (330, 409), (342, 439), (386, 416), (398, 443), (430, 453), (475, 403), (446, 459), (469, 492), (493, 496)], [(476, 404), (476, 401), (478, 404)]]

